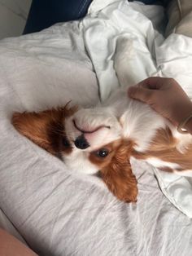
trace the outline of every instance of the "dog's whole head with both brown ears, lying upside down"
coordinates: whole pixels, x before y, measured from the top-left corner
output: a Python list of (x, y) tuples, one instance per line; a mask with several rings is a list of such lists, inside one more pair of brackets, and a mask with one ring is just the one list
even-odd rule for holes
[(131, 141), (121, 138), (119, 120), (109, 112), (76, 107), (41, 113), (15, 113), (20, 134), (61, 158), (71, 170), (100, 171), (107, 187), (122, 201), (137, 201), (137, 180), (129, 157)]

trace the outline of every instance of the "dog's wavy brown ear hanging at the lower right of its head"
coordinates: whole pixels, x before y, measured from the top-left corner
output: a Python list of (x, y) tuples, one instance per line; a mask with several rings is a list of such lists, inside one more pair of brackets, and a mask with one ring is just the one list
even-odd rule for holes
[(129, 150), (129, 147), (122, 144), (109, 165), (101, 170), (101, 176), (109, 190), (120, 201), (136, 202), (137, 179), (129, 162)]

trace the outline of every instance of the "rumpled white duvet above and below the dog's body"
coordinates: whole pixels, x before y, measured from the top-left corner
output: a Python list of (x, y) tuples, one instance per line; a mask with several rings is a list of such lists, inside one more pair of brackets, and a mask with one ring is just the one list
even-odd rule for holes
[[(101, 98), (120, 84), (131, 86), (160, 76), (174, 77), (192, 99), (192, 38), (172, 33), (164, 39), (156, 31), (164, 21), (164, 8), (121, 0), (108, 1), (107, 7), (100, 3), (94, 1), (89, 8), (92, 19), (88, 16), (83, 24)], [(165, 196), (192, 218), (192, 171), (190, 178), (154, 171)]]

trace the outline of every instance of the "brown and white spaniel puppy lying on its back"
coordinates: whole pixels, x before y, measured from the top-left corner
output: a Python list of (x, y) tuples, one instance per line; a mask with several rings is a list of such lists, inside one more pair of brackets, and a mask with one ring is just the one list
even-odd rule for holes
[(192, 176), (192, 136), (182, 135), (148, 105), (116, 90), (95, 108), (68, 107), (15, 113), (20, 134), (64, 161), (70, 170), (100, 173), (121, 201), (137, 201), (130, 157)]

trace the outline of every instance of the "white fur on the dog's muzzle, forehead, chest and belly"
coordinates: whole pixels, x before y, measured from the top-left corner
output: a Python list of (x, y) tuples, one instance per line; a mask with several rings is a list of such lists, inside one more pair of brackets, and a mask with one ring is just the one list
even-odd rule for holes
[[(72, 117), (66, 120), (65, 128), (70, 143), (74, 144), (75, 139), (82, 135), (82, 130), (92, 131), (84, 133), (85, 139), (89, 142), (89, 148), (81, 150), (74, 145), (72, 154), (65, 157), (65, 162), (72, 170), (79, 170), (86, 174), (94, 174), (98, 167), (89, 161), (89, 152), (102, 148), (107, 143), (116, 139), (131, 139), (136, 143), (135, 150), (146, 152), (150, 148), (151, 140), (155, 137), (156, 131), (168, 126), (172, 135), (178, 139), (177, 150), (184, 153), (187, 146), (192, 143), (191, 135), (180, 135), (177, 129), (172, 126), (164, 117), (161, 117), (147, 104), (130, 99), (127, 94), (128, 88), (120, 88), (111, 94), (103, 104), (95, 108), (82, 108)], [(72, 120), (75, 119), (76, 129)], [(110, 127), (110, 129), (106, 128)], [(172, 170), (180, 168), (179, 165), (171, 162), (161, 161), (151, 157), (146, 160), (157, 168), (168, 167)]]

